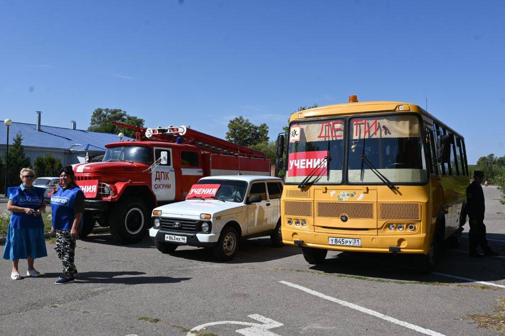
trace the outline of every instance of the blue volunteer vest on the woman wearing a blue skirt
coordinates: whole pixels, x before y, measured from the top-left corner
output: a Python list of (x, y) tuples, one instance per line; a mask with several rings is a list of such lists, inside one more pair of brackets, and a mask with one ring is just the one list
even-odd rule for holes
[[(9, 199), (13, 201), (14, 205), (22, 208), (38, 209), (44, 201), (43, 188), (31, 187), (30, 190), (23, 187), (10, 187), (7, 189)], [(38, 216), (28, 215), (24, 212), (13, 212), (11, 215), (11, 227), (13, 229), (34, 229), (43, 228), (44, 222), (41, 214)]]

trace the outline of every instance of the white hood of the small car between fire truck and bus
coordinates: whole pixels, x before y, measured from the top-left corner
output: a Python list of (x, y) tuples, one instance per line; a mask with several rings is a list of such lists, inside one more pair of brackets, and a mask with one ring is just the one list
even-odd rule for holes
[(221, 202), (217, 200), (189, 200), (157, 207), (162, 215), (188, 215), (200, 217), (201, 213), (210, 213), (213, 217), (242, 211), (242, 203)]

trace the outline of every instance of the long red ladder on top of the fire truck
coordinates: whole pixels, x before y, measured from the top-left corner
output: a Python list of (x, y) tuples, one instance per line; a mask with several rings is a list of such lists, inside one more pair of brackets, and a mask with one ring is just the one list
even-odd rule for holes
[(244, 146), (239, 146), (232, 142), (214, 137), (209, 134), (192, 130), (184, 125), (179, 127), (158, 127), (158, 128), (144, 128), (138, 126), (130, 126), (122, 123), (114, 123), (118, 126), (135, 130), (135, 138), (138, 141), (154, 140), (165, 141), (172, 143), (182, 143), (193, 145), (204, 149), (209, 152), (240, 155), (265, 158), (262, 151), (251, 149)]

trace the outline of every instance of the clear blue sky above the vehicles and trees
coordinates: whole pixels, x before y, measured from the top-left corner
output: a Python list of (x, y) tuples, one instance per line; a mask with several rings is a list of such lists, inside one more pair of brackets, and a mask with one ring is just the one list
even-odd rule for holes
[[(89, 125), (97, 107), (275, 138), (300, 105), (399, 100), (505, 154), (505, 2), (0, 2), (0, 118)], [(2, 125), (3, 127), (3, 125)]]

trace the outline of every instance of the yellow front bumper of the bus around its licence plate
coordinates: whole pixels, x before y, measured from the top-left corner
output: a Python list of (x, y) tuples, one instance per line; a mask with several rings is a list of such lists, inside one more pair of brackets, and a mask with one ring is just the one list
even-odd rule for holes
[[(375, 252), (375, 253), (417, 253), (427, 254), (429, 244), (426, 234), (419, 235), (342, 235), (318, 232), (305, 232), (282, 227), (282, 242), (299, 247), (314, 247), (334, 251)], [(361, 246), (329, 245), (328, 237), (361, 239)], [(295, 242), (296, 241), (296, 242)], [(393, 247), (393, 251), (390, 250)], [(399, 248), (399, 251), (398, 249)]]

